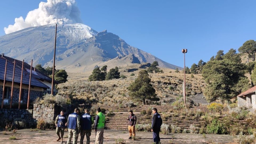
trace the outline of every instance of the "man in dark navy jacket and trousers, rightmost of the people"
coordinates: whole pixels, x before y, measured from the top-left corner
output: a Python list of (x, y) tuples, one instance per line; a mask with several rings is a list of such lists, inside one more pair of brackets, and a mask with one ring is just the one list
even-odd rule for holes
[(152, 128), (151, 128), (151, 131), (153, 132), (153, 140), (155, 144), (159, 144), (160, 143), (159, 132), (162, 125), (162, 118), (157, 113), (156, 108), (152, 109), (152, 113), (154, 114), (152, 118)]

